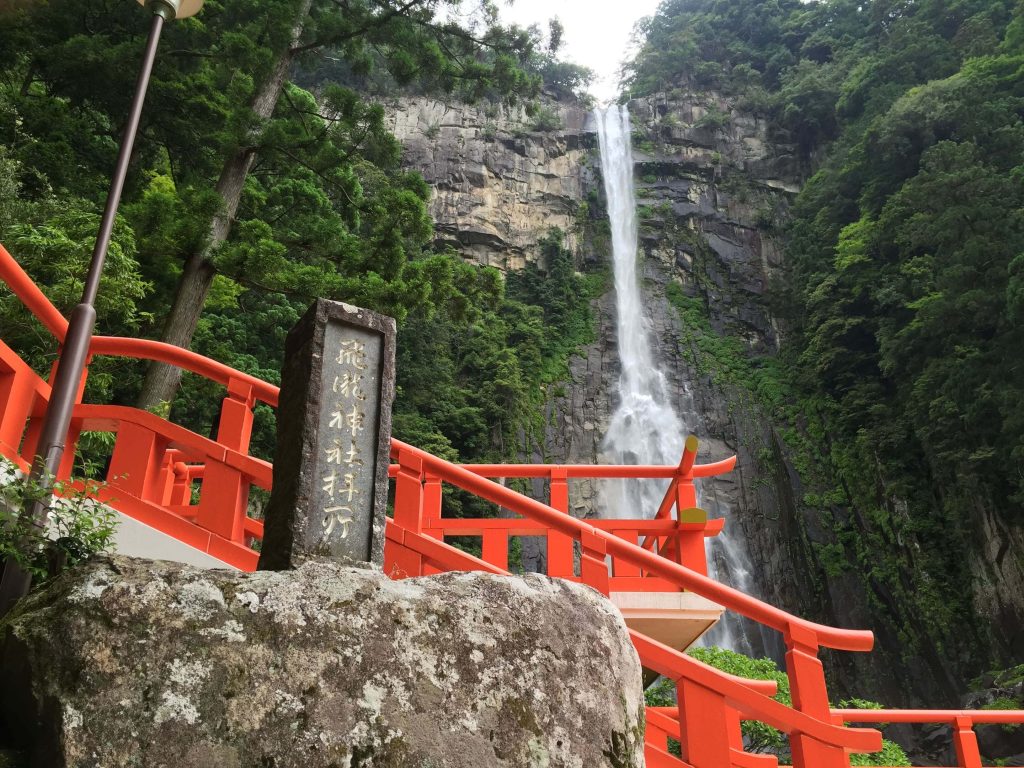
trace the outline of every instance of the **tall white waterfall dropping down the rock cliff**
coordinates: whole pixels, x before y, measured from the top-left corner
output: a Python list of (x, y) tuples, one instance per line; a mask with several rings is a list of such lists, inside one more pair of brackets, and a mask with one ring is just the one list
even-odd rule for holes
[[(636, 200), (633, 190), (633, 151), (630, 115), (625, 105), (594, 112), (601, 148), (601, 174), (611, 226), (615, 284), (618, 357), (618, 404), (611, 416), (602, 451), (611, 464), (676, 464), (688, 428), (696, 431), (697, 416), (689, 393), (684, 393), (683, 417), (677, 414), (665, 374), (654, 359), (649, 324), (644, 316), (637, 264)], [(653, 517), (667, 480), (608, 480), (603, 484), (603, 517)], [(697, 488), (699, 498), (699, 488)], [(715, 505), (719, 506), (719, 505)], [(710, 510), (712, 516), (725, 512)], [(732, 534), (732, 536), (730, 536)], [(752, 587), (750, 558), (733, 521), (709, 546), (709, 573), (743, 592)], [(752, 653), (745, 622), (730, 612), (708, 634), (710, 644)]]

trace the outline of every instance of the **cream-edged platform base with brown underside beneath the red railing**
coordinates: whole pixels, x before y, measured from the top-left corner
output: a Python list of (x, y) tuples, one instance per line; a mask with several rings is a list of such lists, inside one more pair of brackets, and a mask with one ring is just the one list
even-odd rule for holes
[(690, 647), (722, 615), (722, 606), (692, 592), (612, 592), (626, 626), (677, 650)]

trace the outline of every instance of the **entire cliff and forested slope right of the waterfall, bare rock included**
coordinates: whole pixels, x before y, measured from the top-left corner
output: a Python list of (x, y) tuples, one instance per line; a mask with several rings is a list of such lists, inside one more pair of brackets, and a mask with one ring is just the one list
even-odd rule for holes
[[(670, 0), (642, 37), (647, 252), (753, 454), (761, 587), (873, 629), (866, 692), (955, 703), (1024, 655), (1022, 8)], [(708, 140), (752, 122), (786, 173)]]

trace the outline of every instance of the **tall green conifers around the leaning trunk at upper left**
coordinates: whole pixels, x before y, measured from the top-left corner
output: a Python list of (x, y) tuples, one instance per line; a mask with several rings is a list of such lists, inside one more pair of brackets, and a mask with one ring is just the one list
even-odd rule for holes
[[(429, 258), (427, 188), (398, 168), (382, 109), (330, 82), (314, 99), (290, 75), (329, 53), (424, 88), (535, 94), (534, 38), (486, 15), (475, 29), (444, 20), (459, 6), (211, 0), (168, 25), (125, 200), (155, 288), (158, 319), (143, 333), (190, 345), (218, 275), (399, 318), (430, 300), (418, 263)], [(0, 141), (26, 194), (102, 199), (145, 28), (126, 3), (56, 0), (0, 17)], [(151, 367), (141, 403), (170, 399), (176, 382)]]

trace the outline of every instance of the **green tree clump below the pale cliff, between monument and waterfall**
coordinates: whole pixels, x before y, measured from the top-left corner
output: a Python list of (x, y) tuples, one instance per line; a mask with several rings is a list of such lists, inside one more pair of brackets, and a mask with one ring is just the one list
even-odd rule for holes
[(590, 300), (603, 287), (575, 272), (562, 238), (549, 232), (541, 259), (506, 281), (450, 262), (447, 303), (417, 310), (399, 332), (396, 435), (442, 456), (501, 461), (517, 456), (523, 432), (543, 429), (545, 389), (592, 339)]

